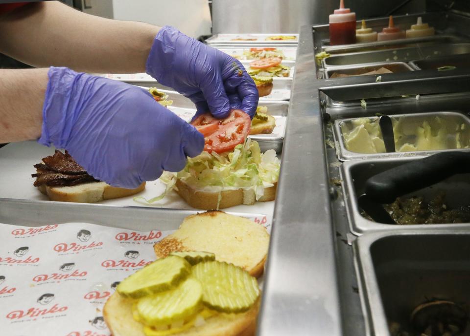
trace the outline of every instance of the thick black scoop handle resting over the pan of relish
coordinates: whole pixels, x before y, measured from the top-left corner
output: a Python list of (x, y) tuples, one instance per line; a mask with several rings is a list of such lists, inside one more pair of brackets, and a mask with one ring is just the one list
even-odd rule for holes
[(365, 193), (377, 203), (389, 204), (397, 197), (468, 172), (470, 153), (438, 153), (372, 176), (365, 183)]

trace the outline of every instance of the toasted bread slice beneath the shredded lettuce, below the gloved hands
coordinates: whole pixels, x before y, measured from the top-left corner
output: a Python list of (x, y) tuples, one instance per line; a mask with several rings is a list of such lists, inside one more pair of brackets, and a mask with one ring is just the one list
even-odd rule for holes
[[(264, 189), (264, 195), (258, 202), (273, 201), (276, 198), (277, 182), (274, 186)], [(184, 181), (176, 181), (176, 193), (180, 195), (191, 207), (202, 210), (218, 210), (237, 205), (255, 204), (256, 195), (253, 189), (233, 189), (219, 192), (208, 192), (194, 189)], [(220, 194), (220, 201), (219, 201)], [(218, 206), (218, 207), (217, 207)]]

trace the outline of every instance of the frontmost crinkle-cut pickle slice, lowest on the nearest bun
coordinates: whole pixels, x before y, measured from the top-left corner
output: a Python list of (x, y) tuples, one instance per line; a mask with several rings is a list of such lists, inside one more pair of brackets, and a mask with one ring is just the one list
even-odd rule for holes
[(160, 326), (195, 315), (203, 307), (201, 299), (201, 283), (188, 278), (175, 289), (142, 297), (136, 308), (142, 323)]

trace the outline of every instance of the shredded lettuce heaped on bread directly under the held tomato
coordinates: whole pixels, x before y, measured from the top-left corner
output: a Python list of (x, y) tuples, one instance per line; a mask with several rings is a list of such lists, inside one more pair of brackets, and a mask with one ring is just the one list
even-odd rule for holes
[(145, 201), (152, 203), (164, 198), (166, 192), (176, 188), (177, 179), (193, 189), (207, 192), (252, 189), (258, 200), (263, 196), (264, 189), (278, 182), (280, 166), (273, 149), (261, 153), (258, 143), (247, 139), (232, 152), (217, 154), (203, 151), (194, 158), (188, 158), (186, 167), (180, 172), (165, 172), (162, 175), (160, 180), (166, 185), (164, 193)]

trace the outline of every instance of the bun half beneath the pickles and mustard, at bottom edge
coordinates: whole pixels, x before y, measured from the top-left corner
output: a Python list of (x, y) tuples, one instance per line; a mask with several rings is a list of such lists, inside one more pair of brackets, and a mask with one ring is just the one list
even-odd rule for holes
[[(133, 299), (123, 298), (118, 293), (106, 301), (103, 317), (113, 336), (145, 336), (142, 324), (132, 317), (133, 302)], [(171, 336), (253, 336), (258, 310), (259, 299), (247, 312), (217, 314), (207, 318), (201, 326), (192, 326)]]

